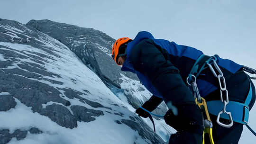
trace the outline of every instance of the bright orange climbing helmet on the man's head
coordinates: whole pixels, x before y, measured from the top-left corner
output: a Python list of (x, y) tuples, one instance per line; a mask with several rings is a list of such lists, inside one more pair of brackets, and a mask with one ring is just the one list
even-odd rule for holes
[(129, 37), (122, 37), (122, 38), (119, 38), (118, 40), (116, 40), (116, 42), (112, 46), (112, 58), (114, 59), (114, 61), (116, 63), (117, 63), (117, 59), (118, 59), (119, 56), (125, 55), (124, 50), (119, 51), (120, 46), (125, 44), (125, 43), (128, 43), (129, 41), (132, 41), (132, 39), (130, 39)]

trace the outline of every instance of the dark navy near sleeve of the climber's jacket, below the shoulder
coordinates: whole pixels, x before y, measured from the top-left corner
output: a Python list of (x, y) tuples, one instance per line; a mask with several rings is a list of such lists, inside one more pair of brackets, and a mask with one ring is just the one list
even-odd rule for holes
[(194, 103), (192, 92), (183, 82), (179, 70), (165, 59), (162, 51), (153, 40), (143, 40), (131, 50), (130, 63), (136, 71), (148, 77), (166, 104), (170, 101), (173, 105)]

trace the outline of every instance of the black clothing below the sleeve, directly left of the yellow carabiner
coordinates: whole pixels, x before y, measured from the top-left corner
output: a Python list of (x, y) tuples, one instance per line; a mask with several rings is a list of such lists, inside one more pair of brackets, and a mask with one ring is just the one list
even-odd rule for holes
[(165, 123), (178, 132), (171, 135), (169, 144), (202, 144), (203, 120), (201, 109), (195, 104), (176, 106), (178, 115), (170, 109), (165, 114)]

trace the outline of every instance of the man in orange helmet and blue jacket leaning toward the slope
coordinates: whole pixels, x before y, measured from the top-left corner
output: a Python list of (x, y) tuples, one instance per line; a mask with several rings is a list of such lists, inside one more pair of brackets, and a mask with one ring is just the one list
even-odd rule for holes
[[(153, 94), (142, 107), (153, 111), (162, 101), (168, 106), (165, 122), (177, 130), (177, 133), (171, 135), (169, 144), (202, 144), (204, 126), (201, 109), (196, 105), (186, 82), (195, 62), (202, 54), (201, 51), (189, 46), (155, 39), (146, 31), (139, 32), (134, 40), (128, 37), (119, 38), (112, 47), (112, 57), (118, 65), (122, 65), (121, 70), (136, 73), (146, 89)], [(255, 87), (242, 71), (243, 66), (221, 59), (218, 55), (215, 58), (226, 78), (229, 101), (233, 102), (230, 105), (247, 103), (245, 107), (250, 110), (256, 99)], [(209, 68), (200, 73), (196, 83), (207, 103), (219, 102), (219, 81)], [(210, 118), (213, 122), (215, 144), (238, 144), (244, 123), (235, 118), (232, 127), (219, 126), (216, 123), (217, 115), (213, 112), (214, 105), (216, 104), (209, 108), (209, 112), (212, 111)], [(177, 109), (177, 112), (174, 109)], [(149, 115), (142, 108), (138, 108), (136, 113), (141, 117)], [(236, 111), (231, 111), (231, 114), (233, 117), (238, 115)], [(244, 115), (241, 117), (245, 118), (247, 113), (242, 112), (239, 115)], [(220, 118), (220, 122), (227, 124), (229, 120)], [(207, 143), (205, 140), (205, 144)]]

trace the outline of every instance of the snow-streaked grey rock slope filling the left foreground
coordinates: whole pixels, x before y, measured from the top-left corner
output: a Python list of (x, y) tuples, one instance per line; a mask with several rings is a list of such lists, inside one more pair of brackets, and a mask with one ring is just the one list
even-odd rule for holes
[(164, 143), (120, 99), (58, 40), (0, 19), (0, 144)]

